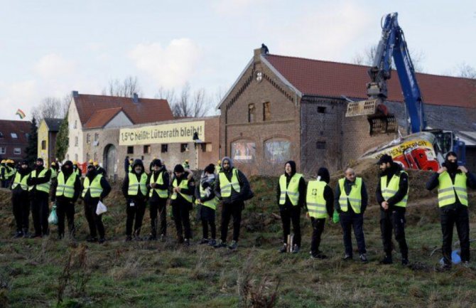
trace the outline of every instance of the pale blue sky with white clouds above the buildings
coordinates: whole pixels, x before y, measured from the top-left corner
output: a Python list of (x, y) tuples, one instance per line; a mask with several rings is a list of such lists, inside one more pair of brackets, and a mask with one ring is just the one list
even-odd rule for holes
[[(457, 3), (457, 5), (455, 4)], [(476, 68), (476, 1), (0, 0), (0, 119), (72, 90), (135, 76), (143, 97), (185, 83), (232, 86), (261, 43), (270, 53), (352, 63), (399, 13), (423, 72)], [(473, 37), (473, 38), (472, 38)], [(364, 88), (365, 85), (362, 85)]]

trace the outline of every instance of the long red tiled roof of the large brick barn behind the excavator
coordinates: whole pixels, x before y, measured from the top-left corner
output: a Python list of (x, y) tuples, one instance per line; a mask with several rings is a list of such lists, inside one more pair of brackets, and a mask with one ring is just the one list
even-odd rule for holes
[[(367, 97), (367, 66), (283, 55), (265, 57), (303, 95)], [(426, 104), (476, 107), (475, 80), (423, 73), (417, 73), (416, 78)], [(404, 101), (396, 71), (392, 71), (388, 90), (389, 100)]]

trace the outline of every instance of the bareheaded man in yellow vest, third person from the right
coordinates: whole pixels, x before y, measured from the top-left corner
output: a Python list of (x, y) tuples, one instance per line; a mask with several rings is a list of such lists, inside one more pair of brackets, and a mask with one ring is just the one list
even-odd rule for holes
[(367, 188), (361, 177), (355, 176), (352, 168), (345, 169), (345, 177), (335, 186), (334, 208), (339, 213), (340, 225), (343, 231), (345, 257), (343, 260), (352, 260), (352, 228), (354, 228), (360, 260), (367, 262), (367, 250), (364, 238), (364, 212), (367, 208)]

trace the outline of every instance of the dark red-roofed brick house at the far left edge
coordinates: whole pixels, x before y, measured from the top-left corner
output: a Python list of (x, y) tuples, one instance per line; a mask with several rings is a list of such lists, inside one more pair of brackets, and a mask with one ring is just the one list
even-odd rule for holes
[(23, 159), (30, 131), (30, 121), (0, 120), (0, 159)]

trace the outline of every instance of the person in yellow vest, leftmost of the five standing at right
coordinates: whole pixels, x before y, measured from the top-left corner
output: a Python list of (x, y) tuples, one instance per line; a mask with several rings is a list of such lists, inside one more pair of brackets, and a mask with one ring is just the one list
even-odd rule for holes
[(292, 253), (298, 253), (301, 248), (301, 208), (305, 203), (305, 181), (302, 174), (296, 173), (296, 162), (286, 161), (284, 174), (279, 178), (276, 186), (276, 202), (281, 214), (283, 224), (283, 247), (279, 253), (288, 250), (288, 235), (291, 233), (293, 222), (293, 247)]

